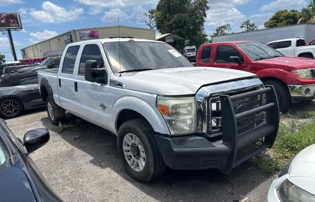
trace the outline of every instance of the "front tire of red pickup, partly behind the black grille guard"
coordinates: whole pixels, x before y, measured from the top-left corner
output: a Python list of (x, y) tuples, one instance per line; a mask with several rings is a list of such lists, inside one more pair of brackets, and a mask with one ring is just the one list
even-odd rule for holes
[(291, 104), (291, 96), (289, 89), (286, 87), (286, 85), (283, 82), (277, 80), (268, 80), (265, 81), (264, 84), (275, 87), (280, 111), (287, 112)]

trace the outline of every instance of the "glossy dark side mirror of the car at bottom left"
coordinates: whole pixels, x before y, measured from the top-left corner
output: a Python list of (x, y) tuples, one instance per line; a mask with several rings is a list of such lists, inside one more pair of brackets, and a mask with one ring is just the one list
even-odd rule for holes
[(27, 155), (46, 144), (49, 141), (49, 131), (46, 128), (30, 130), (24, 135), (24, 146), (27, 149)]

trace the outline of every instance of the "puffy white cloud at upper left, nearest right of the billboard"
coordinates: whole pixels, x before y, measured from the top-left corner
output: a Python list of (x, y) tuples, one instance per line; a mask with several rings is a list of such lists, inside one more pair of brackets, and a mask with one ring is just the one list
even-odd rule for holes
[(59, 23), (77, 20), (83, 14), (83, 8), (67, 10), (50, 1), (42, 3), (42, 10), (32, 11), (32, 18), (45, 23)]

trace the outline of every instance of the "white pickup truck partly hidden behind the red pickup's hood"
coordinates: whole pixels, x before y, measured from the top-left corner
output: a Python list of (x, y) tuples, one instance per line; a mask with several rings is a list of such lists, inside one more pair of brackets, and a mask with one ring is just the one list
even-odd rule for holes
[(302, 38), (289, 38), (267, 43), (284, 56), (315, 58), (315, 46), (306, 46)]

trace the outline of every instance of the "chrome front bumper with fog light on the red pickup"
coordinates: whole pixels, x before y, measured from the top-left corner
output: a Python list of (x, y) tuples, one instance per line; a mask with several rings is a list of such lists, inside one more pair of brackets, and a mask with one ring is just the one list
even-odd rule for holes
[(287, 85), (292, 103), (315, 99), (315, 84), (311, 85)]

